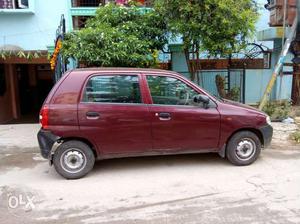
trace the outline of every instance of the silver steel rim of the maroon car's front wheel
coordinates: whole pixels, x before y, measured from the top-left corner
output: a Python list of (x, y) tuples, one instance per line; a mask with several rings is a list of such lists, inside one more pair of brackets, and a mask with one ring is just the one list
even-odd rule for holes
[(252, 139), (244, 138), (237, 144), (236, 154), (240, 160), (250, 159), (255, 152), (256, 144)]

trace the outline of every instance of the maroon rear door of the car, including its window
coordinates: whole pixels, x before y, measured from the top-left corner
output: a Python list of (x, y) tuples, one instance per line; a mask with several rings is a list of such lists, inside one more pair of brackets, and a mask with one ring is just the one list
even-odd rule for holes
[(78, 120), (103, 157), (151, 150), (149, 108), (140, 91), (140, 75), (93, 75), (78, 105)]

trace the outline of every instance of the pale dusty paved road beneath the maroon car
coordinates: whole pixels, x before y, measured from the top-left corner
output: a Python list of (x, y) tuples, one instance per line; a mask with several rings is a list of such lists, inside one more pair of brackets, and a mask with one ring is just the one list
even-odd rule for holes
[[(100, 161), (68, 181), (32, 148), (0, 154), (0, 223), (300, 223), (300, 149)], [(20, 151), (20, 152), (19, 152)]]

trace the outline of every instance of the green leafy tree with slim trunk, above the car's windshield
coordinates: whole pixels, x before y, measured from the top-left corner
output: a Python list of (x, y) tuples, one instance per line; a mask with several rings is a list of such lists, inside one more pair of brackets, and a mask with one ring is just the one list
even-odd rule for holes
[(182, 37), (192, 80), (201, 51), (221, 57), (238, 52), (253, 35), (258, 18), (253, 0), (156, 0), (155, 10), (171, 33)]

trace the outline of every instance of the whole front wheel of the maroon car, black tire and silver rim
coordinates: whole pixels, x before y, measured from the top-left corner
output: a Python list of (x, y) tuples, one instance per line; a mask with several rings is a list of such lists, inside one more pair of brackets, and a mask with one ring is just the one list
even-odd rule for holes
[(236, 166), (252, 164), (261, 152), (261, 142), (251, 131), (240, 131), (234, 134), (226, 147), (227, 159)]

